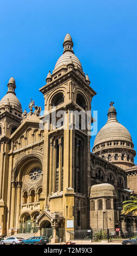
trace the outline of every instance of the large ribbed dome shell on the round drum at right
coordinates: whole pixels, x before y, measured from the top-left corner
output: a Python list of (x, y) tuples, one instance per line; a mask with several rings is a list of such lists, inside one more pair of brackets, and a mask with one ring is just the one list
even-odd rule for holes
[(125, 126), (121, 125), (118, 121), (108, 121), (105, 126), (97, 133), (94, 146), (113, 140), (129, 141), (132, 142), (132, 137)]

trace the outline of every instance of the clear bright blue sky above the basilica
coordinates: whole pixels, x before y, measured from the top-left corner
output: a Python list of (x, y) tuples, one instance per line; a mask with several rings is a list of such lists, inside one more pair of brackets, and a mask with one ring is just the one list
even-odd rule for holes
[[(69, 33), (97, 93), (92, 109), (98, 111), (98, 131), (114, 101), (118, 121), (131, 133), (137, 150), (136, 17), (136, 0), (1, 0), (0, 99), (13, 76), (23, 111), (31, 97), (43, 108), (39, 88), (48, 71), (53, 71)], [(94, 137), (91, 146), (93, 143)]]

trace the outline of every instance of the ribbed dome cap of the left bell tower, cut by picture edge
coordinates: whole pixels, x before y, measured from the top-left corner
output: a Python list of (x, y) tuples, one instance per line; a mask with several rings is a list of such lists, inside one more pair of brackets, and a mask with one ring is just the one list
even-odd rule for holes
[(2, 105), (5, 106), (6, 103), (8, 102), (8, 99), (10, 102), (10, 106), (15, 106), (15, 107), (19, 108), (20, 110), (22, 110), (21, 103), (19, 102), (18, 98), (16, 97), (16, 95), (14, 93), (7, 93), (0, 101), (0, 107)]

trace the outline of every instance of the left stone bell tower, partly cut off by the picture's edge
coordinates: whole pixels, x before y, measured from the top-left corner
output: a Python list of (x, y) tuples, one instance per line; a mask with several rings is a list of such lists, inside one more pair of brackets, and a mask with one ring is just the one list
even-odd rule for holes
[(22, 120), (22, 107), (16, 97), (15, 89), (15, 79), (11, 77), (8, 82), (8, 92), (0, 101), (0, 235), (6, 234), (10, 136)]

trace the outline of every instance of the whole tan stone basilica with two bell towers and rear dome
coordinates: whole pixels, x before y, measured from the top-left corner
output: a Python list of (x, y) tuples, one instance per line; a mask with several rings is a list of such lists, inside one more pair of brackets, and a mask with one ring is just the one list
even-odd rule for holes
[[(137, 216), (121, 213), (122, 202), (137, 193), (137, 167), (132, 137), (117, 120), (114, 102), (108, 102), (93, 153), (81, 117), (79, 129), (69, 129), (69, 121), (67, 129), (63, 121), (51, 122), (54, 109), (64, 111), (67, 120), (72, 111), (91, 112), (96, 95), (69, 34), (45, 80), (43, 115), (32, 99), (29, 112), (22, 110), (13, 77), (0, 101), (0, 236), (50, 230), (57, 242), (61, 232), (69, 239), (81, 229), (137, 229)], [(40, 125), (45, 113), (48, 129)]]

